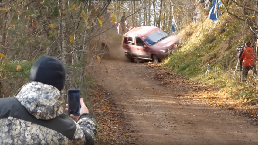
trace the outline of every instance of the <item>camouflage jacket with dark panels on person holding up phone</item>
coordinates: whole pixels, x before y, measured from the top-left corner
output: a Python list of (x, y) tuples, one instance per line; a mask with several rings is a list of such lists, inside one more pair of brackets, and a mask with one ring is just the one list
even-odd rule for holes
[(76, 123), (63, 102), (57, 88), (39, 82), (0, 99), (0, 145), (94, 145), (95, 120), (85, 113)]

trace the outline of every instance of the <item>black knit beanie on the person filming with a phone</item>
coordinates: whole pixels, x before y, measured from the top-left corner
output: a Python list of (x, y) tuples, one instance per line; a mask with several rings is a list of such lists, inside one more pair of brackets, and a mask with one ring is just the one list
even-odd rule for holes
[(52, 85), (61, 91), (65, 86), (65, 69), (55, 57), (42, 56), (31, 68), (29, 81)]

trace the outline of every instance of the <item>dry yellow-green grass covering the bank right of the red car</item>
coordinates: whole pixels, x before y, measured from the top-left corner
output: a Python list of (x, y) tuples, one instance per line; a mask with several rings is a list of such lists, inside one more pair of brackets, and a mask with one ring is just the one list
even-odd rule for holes
[[(165, 60), (163, 65), (203, 85), (216, 85), (221, 91), (227, 91), (231, 97), (258, 98), (254, 90), (243, 88), (256, 83), (257, 78), (251, 75), (252, 71), (249, 73), (248, 84), (240, 83), (240, 71), (237, 71), (235, 81), (232, 82), (238, 59), (236, 47), (249, 37), (246, 31), (243, 23), (227, 14), (222, 15), (217, 23), (203, 19), (196, 24), (190, 24), (179, 33), (184, 40), (181, 51)], [(208, 64), (211, 65), (211, 70), (205, 76)]]

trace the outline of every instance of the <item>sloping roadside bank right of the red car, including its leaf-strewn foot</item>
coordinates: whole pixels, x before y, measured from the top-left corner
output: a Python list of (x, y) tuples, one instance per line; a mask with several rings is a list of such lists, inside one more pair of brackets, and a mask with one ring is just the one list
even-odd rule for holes
[[(249, 82), (241, 83), (238, 68), (236, 78), (232, 81), (238, 60), (236, 48), (251, 40), (248, 27), (224, 14), (217, 23), (205, 18), (196, 24), (190, 24), (181, 30), (179, 36), (183, 40), (182, 48), (168, 57), (162, 65), (213, 89), (210, 92), (199, 92), (200, 100), (205, 98), (211, 105), (226, 105), (257, 118), (257, 77), (253, 77), (253, 72), (250, 71)], [(208, 64), (211, 68), (205, 75)]]

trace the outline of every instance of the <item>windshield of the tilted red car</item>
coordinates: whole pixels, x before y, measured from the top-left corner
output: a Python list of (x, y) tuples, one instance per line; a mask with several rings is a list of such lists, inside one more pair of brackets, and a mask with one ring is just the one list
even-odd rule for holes
[(149, 34), (144, 41), (148, 44), (148, 45), (154, 45), (156, 43), (158, 43), (159, 41), (167, 38), (169, 36), (169, 34), (165, 31), (159, 30), (159, 31), (155, 31), (151, 34)]

